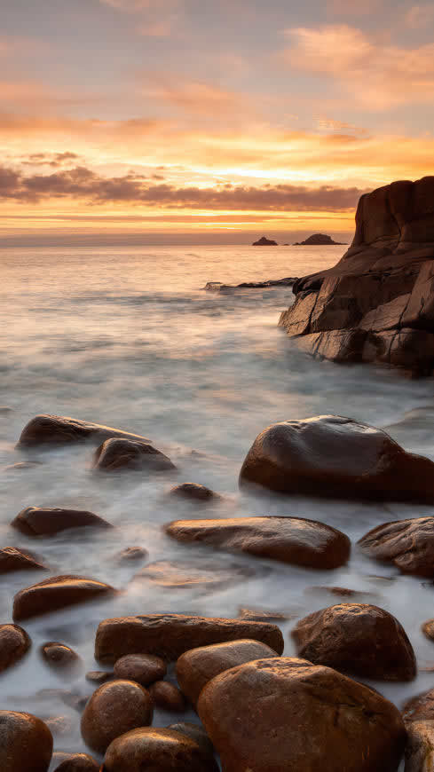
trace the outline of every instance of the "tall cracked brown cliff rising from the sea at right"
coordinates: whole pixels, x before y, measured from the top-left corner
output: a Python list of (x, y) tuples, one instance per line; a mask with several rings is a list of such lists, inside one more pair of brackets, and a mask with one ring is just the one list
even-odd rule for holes
[(305, 351), (338, 362), (434, 369), (434, 177), (360, 198), (351, 247), (296, 281), (280, 317)]

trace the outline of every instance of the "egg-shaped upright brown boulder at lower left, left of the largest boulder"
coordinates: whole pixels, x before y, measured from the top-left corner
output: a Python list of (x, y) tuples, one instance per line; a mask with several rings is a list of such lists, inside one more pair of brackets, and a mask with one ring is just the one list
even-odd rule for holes
[(84, 708), (82, 735), (92, 751), (104, 753), (115, 737), (152, 722), (149, 692), (133, 681), (109, 681), (93, 692)]

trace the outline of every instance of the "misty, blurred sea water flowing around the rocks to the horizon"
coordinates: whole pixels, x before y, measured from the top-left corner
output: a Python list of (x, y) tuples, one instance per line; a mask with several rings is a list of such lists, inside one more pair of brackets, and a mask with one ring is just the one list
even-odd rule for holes
[[(25, 627), (33, 647), (0, 675), (0, 708), (43, 718), (65, 716), (57, 750), (84, 748), (79, 713), (65, 697), (91, 694), (84, 675), (72, 681), (49, 670), (39, 647), (72, 645), (85, 669), (96, 669), (93, 642), (103, 618), (178, 611), (237, 617), (241, 608), (286, 614), (287, 654), (297, 618), (338, 603), (318, 587), (363, 591), (367, 602), (405, 626), (421, 668), (409, 684), (374, 683), (397, 705), (434, 686), (434, 643), (420, 632), (434, 616), (434, 587), (402, 577), (358, 554), (355, 541), (376, 524), (434, 514), (433, 508), (256, 497), (238, 490), (241, 463), (256, 435), (273, 421), (335, 413), (391, 427), (391, 435), (434, 459), (432, 380), (414, 381), (384, 368), (314, 361), (277, 327), (293, 302), (290, 288), (204, 292), (207, 281), (301, 276), (335, 264), (343, 248), (3, 248), (0, 250), (0, 545), (33, 549), (52, 575), (75, 573), (122, 590), (108, 601), (36, 618)], [(152, 438), (177, 471), (102, 478), (91, 473), (87, 446), (28, 457), (32, 469), (4, 470), (25, 456), (14, 445), (38, 413), (66, 414)], [(195, 453), (192, 453), (192, 450)], [(203, 510), (168, 498), (171, 485), (195, 482), (225, 495)], [(108, 532), (70, 531), (32, 540), (10, 523), (27, 506), (86, 508), (114, 524)], [(350, 562), (336, 571), (308, 571), (207, 547), (180, 546), (162, 532), (178, 517), (292, 515), (334, 525), (353, 542)], [(124, 547), (146, 547), (146, 564), (119, 564)], [(162, 570), (163, 569), (163, 570)], [(199, 580), (182, 585), (189, 572)], [(158, 575), (166, 581), (161, 582)], [(0, 619), (12, 618), (12, 598), (43, 575), (5, 575)], [(179, 579), (181, 576), (181, 579)], [(173, 580), (171, 579), (172, 577)], [(179, 580), (178, 580), (178, 579)], [(202, 581), (201, 578), (204, 580)], [(221, 579), (221, 580), (220, 580)], [(188, 717), (188, 716), (187, 716)], [(192, 718), (193, 715), (190, 716)], [(155, 725), (177, 716), (157, 713)]]

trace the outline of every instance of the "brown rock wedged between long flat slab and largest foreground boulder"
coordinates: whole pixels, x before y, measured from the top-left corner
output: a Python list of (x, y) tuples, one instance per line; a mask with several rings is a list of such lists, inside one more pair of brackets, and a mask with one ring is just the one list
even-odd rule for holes
[(185, 651), (177, 662), (177, 678), (185, 697), (196, 705), (201, 690), (216, 675), (254, 659), (275, 658), (276, 652), (258, 641), (231, 641)]

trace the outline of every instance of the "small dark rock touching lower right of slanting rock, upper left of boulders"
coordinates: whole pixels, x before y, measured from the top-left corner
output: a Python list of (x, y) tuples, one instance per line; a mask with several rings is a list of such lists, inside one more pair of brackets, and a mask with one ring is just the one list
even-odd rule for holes
[(164, 453), (149, 442), (112, 437), (99, 445), (93, 469), (99, 472), (163, 472), (176, 467)]

